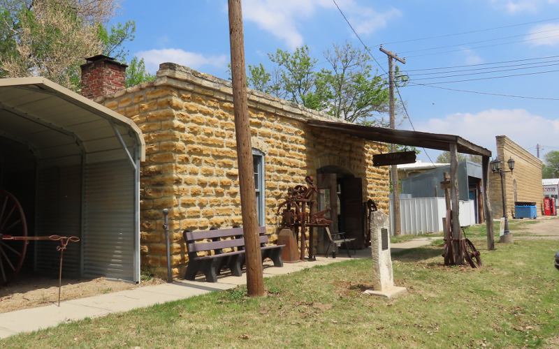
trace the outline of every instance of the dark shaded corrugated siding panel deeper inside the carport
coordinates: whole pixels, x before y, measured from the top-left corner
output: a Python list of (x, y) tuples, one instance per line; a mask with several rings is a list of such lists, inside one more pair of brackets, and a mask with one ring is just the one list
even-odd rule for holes
[[(37, 236), (76, 236), (81, 231), (81, 166), (38, 168), (36, 191)], [(59, 242), (38, 241), (35, 270), (44, 276), (58, 276)], [(80, 275), (80, 243), (70, 243), (64, 251), (63, 277)]]

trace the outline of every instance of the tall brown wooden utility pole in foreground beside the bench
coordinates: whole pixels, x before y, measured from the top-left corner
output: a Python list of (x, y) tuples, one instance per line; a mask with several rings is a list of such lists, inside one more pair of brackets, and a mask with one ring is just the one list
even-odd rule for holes
[(243, 237), (245, 237), (247, 265), (247, 291), (249, 297), (255, 297), (264, 295), (264, 281), (262, 276), (259, 225), (256, 218), (256, 191), (254, 189), (254, 176), (252, 172), (252, 144), (250, 142), (247, 76), (245, 70), (245, 39), (242, 33), (240, 0), (228, 0), (228, 9), (242, 232)]

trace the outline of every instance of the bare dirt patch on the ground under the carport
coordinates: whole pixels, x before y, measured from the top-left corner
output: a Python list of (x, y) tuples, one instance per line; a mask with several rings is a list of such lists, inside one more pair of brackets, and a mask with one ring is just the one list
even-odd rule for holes
[[(152, 279), (140, 285), (125, 281), (98, 279), (62, 279), (61, 301), (104, 293), (132, 290), (163, 281)], [(22, 278), (8, 286), (0, 286), (0, 313), (55, 304), (58, 300), (58, 280), (48, 278)]]

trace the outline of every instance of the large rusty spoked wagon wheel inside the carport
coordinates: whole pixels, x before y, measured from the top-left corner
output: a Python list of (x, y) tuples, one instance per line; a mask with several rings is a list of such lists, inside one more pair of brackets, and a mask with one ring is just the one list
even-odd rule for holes
[(20, 202), (0, 189), (0, 285), (20, 272), (27, 250), (27, 241), (11, 237), (27, 237), (27, 222)]

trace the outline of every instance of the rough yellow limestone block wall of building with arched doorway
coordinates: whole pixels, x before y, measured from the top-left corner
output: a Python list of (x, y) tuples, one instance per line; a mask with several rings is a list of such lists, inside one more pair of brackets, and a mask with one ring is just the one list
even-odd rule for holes
[[(130, 117), (144, 133), (146, 161), (140, 174), (142, 265), (164, 272), (164, 208), (170, 209), (172, 264), (182, 274), (187, 251), (182, 230), (241, 225), (231, 85), (175, 64), (161, 64), (154, 82), (99, 98)], [(332, 131), (314, 131), (310, 118), (328, 116), (249, 91), (252, 147), (265, 154), (266, 225), (275, 238), (276, 210), (287, 189), (317, 169), (337, 165), (363, 179), (363, 199), (388, 212), (388, 168), (372, 155), (385, 144)]]

